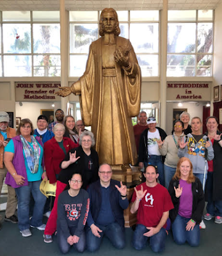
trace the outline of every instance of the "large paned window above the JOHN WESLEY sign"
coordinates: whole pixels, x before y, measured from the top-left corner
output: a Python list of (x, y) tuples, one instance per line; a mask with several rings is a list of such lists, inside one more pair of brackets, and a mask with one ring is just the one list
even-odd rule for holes
[(0, 76), (61, 76), (59, 12), (1, 14)]

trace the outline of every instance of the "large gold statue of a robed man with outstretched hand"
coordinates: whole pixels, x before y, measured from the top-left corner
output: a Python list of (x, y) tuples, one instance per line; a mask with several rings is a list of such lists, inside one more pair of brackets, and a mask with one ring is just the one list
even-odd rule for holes
[(79, 95), (85, 125), (91, 125), (100, 163), (116, 170), (136, 164), (132, 116), (139, 114), (141, 71), (129, 40), (118, 36), (118, 16), (113, 8), (100, 15), (100, 38), (90, 45), (86, 71), (58, 95)]

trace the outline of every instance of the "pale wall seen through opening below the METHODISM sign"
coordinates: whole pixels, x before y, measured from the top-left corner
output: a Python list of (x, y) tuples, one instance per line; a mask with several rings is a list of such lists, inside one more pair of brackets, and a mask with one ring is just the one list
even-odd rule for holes
[(166, 133), (169, 135), (173, 129), (173, 109), (174, 108), (186, 108), (189, 115), (191, 115), (191, 119), (194, 116), (203, 118), (203, 106), (205, 106), (204, 102), (183, 102), (182, 107), (178, 107), (178, 102), (166, 102)]

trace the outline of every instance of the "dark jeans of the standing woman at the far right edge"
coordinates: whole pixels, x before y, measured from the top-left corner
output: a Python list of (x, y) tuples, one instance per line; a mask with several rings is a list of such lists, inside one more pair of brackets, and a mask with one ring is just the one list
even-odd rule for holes
[(207, 212), (212, 216), (222, 217), (222, 200), (213, 201), (213, 173), (207, 174)]

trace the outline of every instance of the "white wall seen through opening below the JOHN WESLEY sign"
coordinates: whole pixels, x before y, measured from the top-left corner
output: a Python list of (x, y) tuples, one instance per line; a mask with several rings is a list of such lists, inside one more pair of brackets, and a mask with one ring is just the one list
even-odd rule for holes
[(61, 108), (60, 102), (54, 102), (54, 105), (53, 108), (52, 102), (22, 102), (22, 106), (20, 106), (19, 102), (15, 102), (15, 116), (21, 119), (29, 118), (36, 128), (37, 118), (41, 115), (40, 109), (54, 109), (56, 111), (56, 109)]

